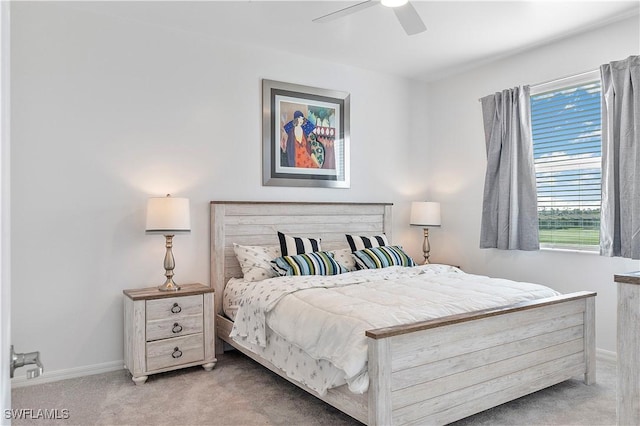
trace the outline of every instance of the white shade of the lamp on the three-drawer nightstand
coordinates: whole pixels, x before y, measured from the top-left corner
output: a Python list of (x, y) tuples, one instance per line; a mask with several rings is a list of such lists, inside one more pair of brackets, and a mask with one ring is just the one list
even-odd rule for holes
[(153, 197), (147, 201), (147, 234), (186, 234), (191, 231), (188, 198)]

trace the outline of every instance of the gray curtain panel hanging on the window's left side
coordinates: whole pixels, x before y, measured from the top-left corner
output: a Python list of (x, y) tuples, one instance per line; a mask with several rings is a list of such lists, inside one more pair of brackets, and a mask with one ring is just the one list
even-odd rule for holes
[(480, 248), (538, 250), (529, 86), (480, 102), (487, 144)]

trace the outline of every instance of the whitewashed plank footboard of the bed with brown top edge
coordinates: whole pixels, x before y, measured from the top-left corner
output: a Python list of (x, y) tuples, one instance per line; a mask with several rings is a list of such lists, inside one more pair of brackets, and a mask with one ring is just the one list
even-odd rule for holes
[(369, 424), (446, 424), (584, 374), (595, 293), (367, 332)]

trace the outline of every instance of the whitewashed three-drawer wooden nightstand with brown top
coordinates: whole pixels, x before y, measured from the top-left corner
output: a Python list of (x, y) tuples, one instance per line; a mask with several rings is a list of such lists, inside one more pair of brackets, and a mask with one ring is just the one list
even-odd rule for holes
[(124, 290), (124, 362), (136, 385), (149, 374), (202, 365), (215, 358), (214, 289), (184, 284)]

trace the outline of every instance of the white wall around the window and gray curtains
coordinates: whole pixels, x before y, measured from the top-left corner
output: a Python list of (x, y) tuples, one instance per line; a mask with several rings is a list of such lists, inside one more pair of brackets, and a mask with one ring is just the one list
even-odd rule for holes
[(640, 52), (638, 16), (429, 85), (427, 173), (443, 225), (431, 235), (434, 260), (460, 262), (470, 272), (550, 285), (559, 291), (598, 292), (597, 347), (615, 351), (615, 273), (640, 262), (558, 251), (480, 250), (486, 167), (478, 99), (505, 88), (536, 84)]

